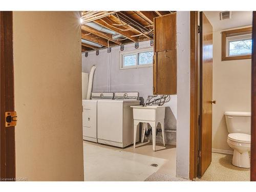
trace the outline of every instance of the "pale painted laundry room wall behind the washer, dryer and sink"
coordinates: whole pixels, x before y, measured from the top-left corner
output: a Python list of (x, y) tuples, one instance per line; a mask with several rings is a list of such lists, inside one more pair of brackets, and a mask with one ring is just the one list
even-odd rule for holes
[[(150, 41), (139, 42), (139, 49), (152, 48)], [(111, 53), (108, 49), (89, 52), (88, 57), (82, 54), (82, 72), (90, 72), (91, 66), (95, 65), (95, 76), (93, 92), (118, 92), (118, 91), (138, 91), (140, 97), (146, 100), (148, 95), (152, 95), (153, 68), (143, 67), (137, 69), (120, 70), (120, 53), (138, 51), (134, 44), (124, 45), (124, 51), (120, 51), (120, 46), (113, 47)], [(170, 102), (166, 103), (165, 127), (176, 130), (177, 118), (177, 95), (172, 95)]]

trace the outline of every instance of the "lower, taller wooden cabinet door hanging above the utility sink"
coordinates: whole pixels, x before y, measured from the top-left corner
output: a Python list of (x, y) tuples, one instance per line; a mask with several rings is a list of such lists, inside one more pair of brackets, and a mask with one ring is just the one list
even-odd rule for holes
[(176, 49), (157, 52), (157, 94), (177, 94)]

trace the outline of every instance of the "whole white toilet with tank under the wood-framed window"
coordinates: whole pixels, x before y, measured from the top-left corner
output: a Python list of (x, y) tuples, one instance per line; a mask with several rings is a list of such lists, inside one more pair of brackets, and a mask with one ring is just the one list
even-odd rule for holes
[(232, 164), (250, 168), (251, 112), (225, 112), (227, 144), (234, 150)]

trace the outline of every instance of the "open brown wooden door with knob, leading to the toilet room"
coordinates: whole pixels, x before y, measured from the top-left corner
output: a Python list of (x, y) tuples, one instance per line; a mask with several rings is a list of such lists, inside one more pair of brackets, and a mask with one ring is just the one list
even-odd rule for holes
[(212, 26), (200, 12), (200, 122), (199, 166), (201, 177), (211, 163), (212, 134)]

